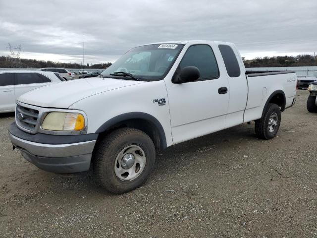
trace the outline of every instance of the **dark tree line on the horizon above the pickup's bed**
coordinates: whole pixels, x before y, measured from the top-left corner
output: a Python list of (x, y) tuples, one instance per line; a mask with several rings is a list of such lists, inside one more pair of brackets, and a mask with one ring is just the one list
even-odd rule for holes
[(313, 55), (259, 57), (254, 60), (243, 59), (243, 61), (247, 68), (317, 66), (317, 57)]

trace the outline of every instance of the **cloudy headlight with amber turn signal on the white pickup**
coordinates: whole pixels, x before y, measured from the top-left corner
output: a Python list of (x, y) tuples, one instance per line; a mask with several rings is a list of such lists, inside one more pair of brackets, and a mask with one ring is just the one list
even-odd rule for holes
[(84, 127), (85, 119), (80, 113), (52, 112), (42, 122), (43, 130), (79, 131)]

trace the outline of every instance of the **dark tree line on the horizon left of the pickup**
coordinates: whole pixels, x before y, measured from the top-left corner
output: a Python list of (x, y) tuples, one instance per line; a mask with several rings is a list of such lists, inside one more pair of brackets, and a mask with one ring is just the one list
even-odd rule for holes
[[(15, 62), (14, 58), (9, 56), (0, 56), (0, 68), (15, 68), (15, 65), (19, 68), (83, 68), (82, 64), (79, 63), (62, 63), (62, 62), (53, 62), (53, 61), (44, 61), (44, 60), (30, 60), (30, 59), (20, 59)], [(106, 63), (95, 63), (87, 64), (85, 68), (107, 68), (111, 65), (111, 62)]]

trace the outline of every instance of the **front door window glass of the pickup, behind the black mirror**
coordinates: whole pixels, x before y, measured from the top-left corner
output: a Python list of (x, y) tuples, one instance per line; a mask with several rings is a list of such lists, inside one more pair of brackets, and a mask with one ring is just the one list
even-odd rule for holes
[(197, 81), (215, 79), (219, 76), (217, 61), (211, 47), (208, 45), (194, 45), (189, 47), (179, 66), (180, 69), (187, 66), (198, 67), (200, 77)]

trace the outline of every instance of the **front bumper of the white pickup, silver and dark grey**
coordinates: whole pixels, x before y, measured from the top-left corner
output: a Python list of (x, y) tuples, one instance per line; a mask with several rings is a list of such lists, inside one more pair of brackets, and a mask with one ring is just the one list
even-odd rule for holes
[(13, 146), (27, 161), (58, 174), (88, 171), (97, 137), (98, 134), (32, 135), (17, 128), (15, 122), (9, 127)]

